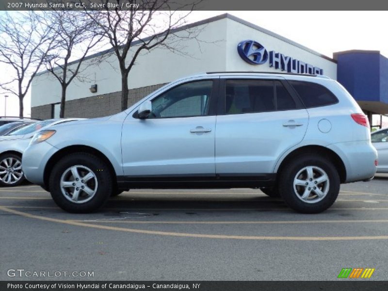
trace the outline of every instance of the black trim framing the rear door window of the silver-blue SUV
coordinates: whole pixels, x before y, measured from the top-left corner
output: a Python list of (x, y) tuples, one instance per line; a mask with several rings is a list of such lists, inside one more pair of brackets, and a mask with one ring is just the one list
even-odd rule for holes
[[(295, 108), (292, 109), (275, 109), (270, 111), (258, 111), (258, 112), (242, 112), (242, 113), (226, 113), (225, 112), (225, 99), (226, 99), (226, 81), (273, 81), (274, 86), (274, 93), (276, 94), (276, 85), (275, 81), (279, 81), (284, 89), (290, 94), (291, 98), (295, 102)], [(218, 104), (217, 104), (217, 115), (237, 115), (237, 114), (252, 114), (252, 113), (268, 113), (268, 112), (282, 112), (282, 111), (291, 111), (291, 110), (299, 110), (299, 109), (305, 109), (304, 104), (301, 102), (300, 98), (295, 94), (295, 92), (290, 90), (290, 84), (285, 82), (284, 79), (271, 79), (271, 78), (222, 78), (220, 79), (220, 89), (219, 89), (219, 98), (218, 98)], [(276, 97), (276, 103), (277, 103), (277, 97)], [(276, 104), (277, 107), (277, 104)]]

